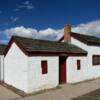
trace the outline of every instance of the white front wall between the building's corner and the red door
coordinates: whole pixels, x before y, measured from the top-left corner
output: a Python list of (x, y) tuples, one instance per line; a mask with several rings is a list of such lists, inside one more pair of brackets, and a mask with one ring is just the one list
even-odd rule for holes
[[(42, 74), (41, 61), (47, 60), (48, 73)], [(58, 86), (59, 60), (57, 56), (35, 56), (28, 63), (28, 91), (33, 92)]]

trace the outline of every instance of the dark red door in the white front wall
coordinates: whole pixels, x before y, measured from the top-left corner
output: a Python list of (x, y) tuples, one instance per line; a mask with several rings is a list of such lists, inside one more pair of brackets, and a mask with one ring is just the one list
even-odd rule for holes
[(66, 57), (59, 57), (59, 84), (66, 83)]

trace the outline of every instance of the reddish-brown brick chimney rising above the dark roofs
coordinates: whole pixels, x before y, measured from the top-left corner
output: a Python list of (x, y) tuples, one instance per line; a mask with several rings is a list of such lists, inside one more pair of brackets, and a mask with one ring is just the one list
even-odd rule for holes
[(71, 25), (64, 26), (64, 42), (71, 42)]

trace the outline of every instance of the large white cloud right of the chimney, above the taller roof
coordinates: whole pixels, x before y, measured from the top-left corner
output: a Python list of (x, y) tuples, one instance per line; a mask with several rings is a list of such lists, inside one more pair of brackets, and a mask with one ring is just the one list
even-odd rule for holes
[(100, 20), (79, 24), (73, 27), (72, 30), (81, 34), (100, 36)]

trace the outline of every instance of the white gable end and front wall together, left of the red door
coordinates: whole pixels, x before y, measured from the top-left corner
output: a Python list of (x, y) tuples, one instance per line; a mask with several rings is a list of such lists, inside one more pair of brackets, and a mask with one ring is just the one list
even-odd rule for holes
[[(42, 60), (48, 62), (47, 74), (42, 74)], [(27, 57), (15, 43), (5, 57), (4, 71), (5, 83), (27, 93), (53, 88), (59, 84), (58, 57)]]

